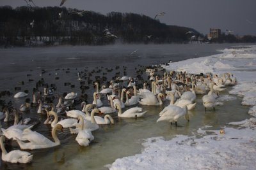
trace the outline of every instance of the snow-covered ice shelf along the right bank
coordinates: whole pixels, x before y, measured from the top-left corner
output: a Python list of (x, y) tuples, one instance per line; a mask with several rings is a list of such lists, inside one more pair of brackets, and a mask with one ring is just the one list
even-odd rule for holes
[(237, 85), (221, 96), (222, 101), (243, 97), (242, 103), (252, 106), (252, 118), (227, 122), (220, 129), (202, 127), (193, 136), (177, 135), (166, 141), (162, 137), (145, 139), (140, 154), (116, 159), (109, 169), (255, 169), (256, 159), (256, 46), (234, 46), (221, 54), (172, 62), (167, 71), (188, 73), (232, 73)]

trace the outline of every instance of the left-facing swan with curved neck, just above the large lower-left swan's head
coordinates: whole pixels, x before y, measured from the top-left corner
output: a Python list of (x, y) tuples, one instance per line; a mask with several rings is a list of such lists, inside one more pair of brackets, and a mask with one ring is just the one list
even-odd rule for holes
[(58, 115), (55, 111), (49, 111), (49, 115), (54, 116), (54, 120), (51, 123), (51, 127), (54, 127), (56, 124), (62, 125), (63, 128), (74, 127), (77, 125), (76, 118), (65, 118), (58, 122)]

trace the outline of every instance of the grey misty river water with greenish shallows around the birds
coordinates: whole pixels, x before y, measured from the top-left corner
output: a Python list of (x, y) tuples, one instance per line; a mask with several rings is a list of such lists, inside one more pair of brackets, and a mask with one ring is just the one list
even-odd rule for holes
[[(12, 101), (13, 106), (19, 108), (20, 104), (24, 103), (24, 99), (13, 99), (13, 95), (16, 92), (28, 90), (28, 97), (32, 99), (32, 89), (35, 87), (36, 81), (42, 78), (48, 85), (56, 85), (57, 90), (54, 94), (77, 92), (81, 95), (77, 71), (81, 71), (82, 74), (86, 73), (87, 76), (84, 77), (84, 80), (87, 80), (88, 73), (92, 73), (90, 79), (93, 81), (95, 76), (106, 76), (109, 81), (118, 72), (120, 72), (120, 76), (127, 74), (127, 76), (136, 77), (136, 71), (141, 69), (141, 66), (208, 56), (230, 46), (227, 44), (189, 44), (0, 49), (0, 91), (11, 92), (10, 97), (2, 96), (1, 100)], [(126, 70), (125, 67), (127, 67)], [(42, 70), (45, 73), (42, 73)], [(143, 73), (143, 77), (147, 78), (147, 74)], [(20, 81), (24, 81), (24, 85), (21, 85)], [(93, 85), (85, 82), (89, 89), (84, 93), (88, 95), (88, 103), (92, 103)], [(65, 83), (70, 83), (70, 85), (65, 85)], [(20, 87), (21, 90), (15, 91), (15, 87)], [(43, 91), (43, 88), (40, 87), (39, 90)], [(228, 89), (222, 95), (227, 94), (227, 91)], [(106, 98), (103, 98), (102, 101), (106, 104)], [(55, 99), (54, 104), (57, 102), (58, 99)], [(164, 101), (163, 106), (141, 106), (148, 112), (145, 117), (137, 120), (118, 118), (117, 114), (112, 114), (115, 124), (101, 125), (100, 129), (93, 131), (95, 139), (90, 146), (79, 146), (75, 141), (76, 135), (72, 135), (68, 131), (58, 132), (61, 145), (29, 151), (34, 155), (31, 164), (10, 164), (2, 161), (0, 167), (1, 169), (107, 169), (104, 166), (118, 158), (140, 153), (143, 139), (154, 136), (164, 136), (164, 138), (170, 139), (175, 134), (189, 135), (202, 126), (220, 128), (227, 122), (240, 121), (249, 117), (248, 107), (241, 106), (241, 98), (234, 97), (234, 100), (221, 102), (225, 106), (217, 106), (215, 111), (205, 113), (202, 96), (197, 96), (195, 110), (189, 111), (190, 122), (181, 119), (177, 128), (165, 122), (156, 123), (159, 117), (158, 113), (169, 104), (169, 101)], [(77, 104), (76, 108), (81, 110), (80, 104)], [(44, 122), (45, 115), (38, 115), (36, 111), (35, 107), (22, 114), (23, 117), (35, 117)], [(234, 116), (234, 113), (240, 114)], [(51, 126), (44, 125), (42, 122), (33, 130), (52, 139)], [(3, 120), (1, 120), (1, 124), (4, 128), (10, 125), (4, 123)], [(11, 150), (19, 149), (15, 141), (12, 146)]]

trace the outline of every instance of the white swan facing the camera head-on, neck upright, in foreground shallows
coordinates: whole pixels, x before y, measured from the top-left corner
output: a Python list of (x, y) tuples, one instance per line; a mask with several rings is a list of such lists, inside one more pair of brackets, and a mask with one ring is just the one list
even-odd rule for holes
[[(78, 134), (76, 136), (76, 141), (80, 146), (88, 146), (91, 141), (93, 141), (94, 136), (92, 135), (92, 132), (88, 129), (84, 129), (84, 118), (79, 115), (79, 125), (77, 125)], [(70, 131), (72, 131), (70, 129)]]

